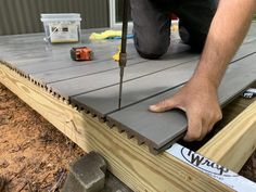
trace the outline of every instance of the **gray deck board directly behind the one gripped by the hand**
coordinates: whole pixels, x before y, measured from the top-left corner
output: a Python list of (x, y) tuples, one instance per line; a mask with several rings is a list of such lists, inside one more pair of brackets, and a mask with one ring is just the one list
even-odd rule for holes
[[(243, 47), (242, 49), (247, 48)], [(240, 53), (238, 53), (240, 54)], [(236, 54), (236, 55), (238, 55)], [(240, 55), (241, 56), (241, 55)], [(236, 56), (236, 60), (239, 57)], [(168, 60), (171, 62), (171, 60)], [(235, 57), (233, 59), (235, 61)], [(157, 61), (157, 65), (162, 64)], [(148, 98), (154, 97), (167, 90), (175, 88), (177, 85), (184, 84), (192, 76), (197, 64), (197, 60), (179, 64), (178, 66), (166, 68), (163, 72), (154, 73), (133, 80), (124, 82), (121, 106), (139, 103)], [(127, 72), (125, 75), (127, 75)], [(71, 101), (84, 108), (89, 108), (100, 117), (118, 110), (118, 91), (119, 85), (114, 85), (91, 91), (77, 97), (71, 97)]]

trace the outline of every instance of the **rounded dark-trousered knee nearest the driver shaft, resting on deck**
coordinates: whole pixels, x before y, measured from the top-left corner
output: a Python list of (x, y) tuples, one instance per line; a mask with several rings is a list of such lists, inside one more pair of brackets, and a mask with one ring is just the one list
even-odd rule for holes
[(140, 40), (135, 38), (135, 44), (138, 53), (145, 59), (156, 60), (164, 55), (169, 47), (169, 39), (154, 38), (149, 40)]

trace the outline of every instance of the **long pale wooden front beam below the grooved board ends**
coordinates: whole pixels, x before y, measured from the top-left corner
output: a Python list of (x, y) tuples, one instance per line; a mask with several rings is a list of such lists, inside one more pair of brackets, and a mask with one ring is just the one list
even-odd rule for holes
[(152, 155), (146, 146), (77, 112), (3, 65), (0, 81), (85, 151), (104, 156), (108, 169), (136, 192), (231, 191), (171, 155)]

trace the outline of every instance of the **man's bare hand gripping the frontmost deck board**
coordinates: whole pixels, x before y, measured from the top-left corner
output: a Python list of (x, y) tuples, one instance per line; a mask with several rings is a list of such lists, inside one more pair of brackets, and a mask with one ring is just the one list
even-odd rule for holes
[(166, 112), (171, 108), (180, 108), (187, 114), (185, 141), (202, 140), (222, 118), (216, 86), (201, 77), (193, 77), (174, 98), (150, 106), (152, 112)]

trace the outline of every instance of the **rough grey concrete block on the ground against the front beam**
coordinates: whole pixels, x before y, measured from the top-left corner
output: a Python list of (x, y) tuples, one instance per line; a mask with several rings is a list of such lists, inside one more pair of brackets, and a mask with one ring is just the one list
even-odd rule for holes
[(71, 166), (63, 192), (99, 192), (105, 183), (105, 161), (91, 152)]

